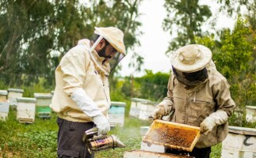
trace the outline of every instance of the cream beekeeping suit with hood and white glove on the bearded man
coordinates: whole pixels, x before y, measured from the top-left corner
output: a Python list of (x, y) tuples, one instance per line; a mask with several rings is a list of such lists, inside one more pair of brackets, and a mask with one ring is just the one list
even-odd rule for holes
[(95, 28), (94, 33), (99, 37), (92, 46), (90, 40), (79, 40), (56, 68), (51, 107), (59, 118), (72, 122), (94, 122), (99, 134), (105, 134), (110, 130), (106, 119), (110, 107), (109, 62), (116, 57), (105, 60), (94, 48), (104, 38), (119, 51), (116, 55), (120, 62), (125, 55), (124, 34), (114, 27)]

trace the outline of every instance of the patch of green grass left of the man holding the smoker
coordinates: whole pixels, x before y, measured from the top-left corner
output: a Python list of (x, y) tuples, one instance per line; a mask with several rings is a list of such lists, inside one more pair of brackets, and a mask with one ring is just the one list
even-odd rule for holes
[(16, 111), (10, 110), (6, 122), (0, 122), (0, 156), (55, 157), (57, 149), (56, 115), (49, 120), (38, 119), (32, 124), (16, 120)]

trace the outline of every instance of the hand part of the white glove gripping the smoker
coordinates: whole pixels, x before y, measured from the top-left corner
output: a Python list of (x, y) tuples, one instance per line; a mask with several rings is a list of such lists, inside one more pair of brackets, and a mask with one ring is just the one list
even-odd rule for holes
[(105, 118), (105, 115), (97, 115), (93, 118), (93, 122), (97, 126), (98, 135), (107, 134), (110, 130), (109, 121)]

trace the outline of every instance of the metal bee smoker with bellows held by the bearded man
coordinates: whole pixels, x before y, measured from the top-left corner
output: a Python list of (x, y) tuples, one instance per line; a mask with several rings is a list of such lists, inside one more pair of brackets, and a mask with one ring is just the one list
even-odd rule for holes
[(97, 127), (86, 130), (82, 141), (86, 143), (86, 147), (90, 153), (125, 147), (124, 143), (115, 135), (97, 135)]

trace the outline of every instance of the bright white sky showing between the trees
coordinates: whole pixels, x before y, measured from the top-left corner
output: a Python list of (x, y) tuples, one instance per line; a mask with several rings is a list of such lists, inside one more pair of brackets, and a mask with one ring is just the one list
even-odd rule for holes
[[(142, 26), (139, 28), (143, 32), (139, 36), (141, 46), (136, 47), (135, 51), (139, 52), (144, 58), (144, 63), (141, 72), (135, 72), (134, 68), (128, 67), (128, 63), (132, 60), (132, 51), (120, 62), (122, 70), (120, 76), (133, 76), (139, 77), (145, 74), (144, 70), (152, 70), (153, 73), (170, 72), (170, 58), (166, 56), (165, 52), (169, 46), (169, 42), (175, 36), (170, 36), (168, 32), (162, 30), (162, 21), (166, 17), (166, 9), (163, 7), (164, 0), (144, 0), (139, 6), (139, 13), (142, 13), (139, 21)], [(213, 1), (201, 1), (201, 4), (210, 6), (212, 15), (216, 17), (215, 29), (233, 28), (235, 24), (235, 17), (227, 17), (224, 13), (219, 13), (219, 5)], [(214, 18), (212, 17), (212, 18)], [(212, 28), (209, 24), (202, 26), (203, 32)]]

